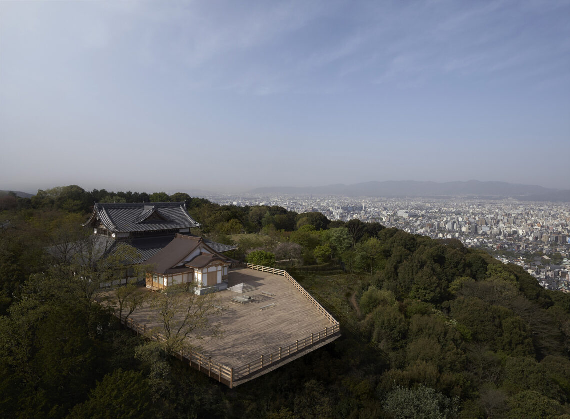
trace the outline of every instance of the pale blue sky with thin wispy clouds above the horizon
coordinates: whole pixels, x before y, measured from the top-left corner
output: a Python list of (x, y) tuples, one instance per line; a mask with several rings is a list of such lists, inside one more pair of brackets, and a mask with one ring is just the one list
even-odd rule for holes
[(0, 1), (0, 189), (570, 189), (570, 1)]

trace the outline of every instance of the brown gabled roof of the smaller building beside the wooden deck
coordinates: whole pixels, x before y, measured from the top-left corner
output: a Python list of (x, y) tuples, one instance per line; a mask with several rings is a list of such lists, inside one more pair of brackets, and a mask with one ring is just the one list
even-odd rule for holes
[[(182, 261), (195, 251), (200, 245), (210, 251), (212, 254), (201, 254), (186, 264), (192, 268), (202, 268), (214, 260), (221, 260), (225, 263), (231, 263), (229, 257), (216, 252), (211, 246), (201, 239), (201, 237), (188, 236), (178, 233), (172, 241), (160, 252), (156, 253), (153, 257), (146, 261), (146, 264), (154, 265), (151, 269), (156, 273), (178, 273), (189, 271), (186, 267), (181, 267)], [(205, 263), (205, 264), (203, 264)]]

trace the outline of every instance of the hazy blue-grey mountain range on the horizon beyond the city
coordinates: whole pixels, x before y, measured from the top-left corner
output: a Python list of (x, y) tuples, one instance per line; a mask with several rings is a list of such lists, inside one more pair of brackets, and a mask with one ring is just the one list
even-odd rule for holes
[(557, 190), (538, 185), (507, 182), (419, 182), (386, 180), (352, 185), (334, 184), (317, 187), (268, 187), (251, 190), (252, 194), (342, 195), (400, 198), (405, 196), (441, 197), (471, 196), (479, 198), (515, 198), (519, 200), (570, 202), (570, 190)]

